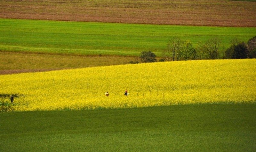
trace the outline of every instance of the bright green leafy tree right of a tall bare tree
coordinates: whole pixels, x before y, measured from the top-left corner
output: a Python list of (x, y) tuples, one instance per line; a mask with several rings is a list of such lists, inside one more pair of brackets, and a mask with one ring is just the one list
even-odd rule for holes
[(195, 60), (196, 59), (196, 50), (193, 47), (193, 44), (188, 40), (184, 44), (184, 49), (181, 51), (181, 58), (183, 60)]

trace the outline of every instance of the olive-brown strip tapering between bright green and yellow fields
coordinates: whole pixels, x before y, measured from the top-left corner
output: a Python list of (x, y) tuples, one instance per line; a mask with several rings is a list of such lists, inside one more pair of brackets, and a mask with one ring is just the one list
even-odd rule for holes
[(129, 56), (58, 55), (0, 51), (0, 75), (120, 65), (131, 61), (139, 61), (139, 59)]

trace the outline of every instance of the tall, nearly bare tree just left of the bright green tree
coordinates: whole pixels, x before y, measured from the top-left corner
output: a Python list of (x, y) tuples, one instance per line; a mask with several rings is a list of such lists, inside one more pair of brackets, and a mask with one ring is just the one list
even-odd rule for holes
[(184, 41), (180, 37), (174, 37), (169, 40), (164, 58), (167, 61), (180, 60), (181, 51), (184, 49)]

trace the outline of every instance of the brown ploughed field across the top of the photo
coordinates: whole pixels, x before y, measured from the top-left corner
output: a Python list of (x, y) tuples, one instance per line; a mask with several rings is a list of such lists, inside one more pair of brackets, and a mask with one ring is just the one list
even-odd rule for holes
[(0, 18), (256, 27), (256, 2), (0, 0)]

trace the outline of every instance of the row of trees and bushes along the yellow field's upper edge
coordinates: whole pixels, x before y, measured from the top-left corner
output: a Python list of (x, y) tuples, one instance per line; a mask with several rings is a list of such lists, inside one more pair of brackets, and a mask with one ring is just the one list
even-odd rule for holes
[[(249, 39), (247, 43), (233, 39), (227, 49), (221, 46), (221, 41), (217, 37), (205, 42), (199, 41), (196, 47), (190, 40), (174, 37), (168, 41), (163, 57), (159, 61), (256, 58), (256, 36)], [(156, 55), (151, 51), (143, 51), (140, 60), (141, 62), (156, 62)]]

